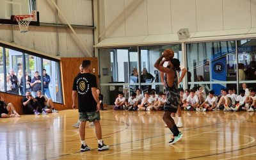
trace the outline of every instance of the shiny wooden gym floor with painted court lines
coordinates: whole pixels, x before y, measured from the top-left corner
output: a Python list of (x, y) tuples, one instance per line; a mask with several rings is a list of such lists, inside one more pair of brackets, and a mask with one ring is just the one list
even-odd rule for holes
[(162, 114), (100, 111), (102, 138), (110, 145), (102, 152), (88, 124), (86, 143), (92, 150), (79, 151), (79, 130), (72, 127), (77, 109), (0, 118), (0, 159), (256, 159), (254, 112), (182, 111), (184, 138), (172, 146)]

